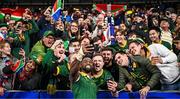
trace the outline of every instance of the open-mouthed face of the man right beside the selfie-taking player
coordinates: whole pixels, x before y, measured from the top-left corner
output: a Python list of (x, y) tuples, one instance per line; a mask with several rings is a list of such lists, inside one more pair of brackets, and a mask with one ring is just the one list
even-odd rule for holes
[(104, 61), (102, 56), (94, 56), (93, 57), (94, 70), (99, 72), (103, 69)]

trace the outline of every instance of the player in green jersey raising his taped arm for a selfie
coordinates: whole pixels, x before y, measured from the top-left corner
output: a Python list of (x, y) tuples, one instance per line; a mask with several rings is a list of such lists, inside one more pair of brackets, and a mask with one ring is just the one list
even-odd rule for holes
[(89, 51), (81, 47), (75, 60), (70, 64), (72, 68), (70, 69), (69, 78), (75, 99), (96, 99), (97, 96), (97, 86), (91, 79), (93, 62), (91, 58), (84, 57), (87, 52)]

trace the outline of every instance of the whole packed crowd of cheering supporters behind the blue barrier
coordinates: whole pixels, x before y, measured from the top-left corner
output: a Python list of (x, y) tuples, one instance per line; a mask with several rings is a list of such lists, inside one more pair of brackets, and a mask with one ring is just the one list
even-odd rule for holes
[(128, 7), (114, 15), (62, 10), (58, 21), (51, 7), (39, 13), (27, 8), (16, 21), (6, 13), (0, 21), (0, 94), (70, 89), (78, 93), (78, 88), (87, 94), (96, 89), (139, 90), (143, 95), (149, 90), (180, 90), (176, 11)]

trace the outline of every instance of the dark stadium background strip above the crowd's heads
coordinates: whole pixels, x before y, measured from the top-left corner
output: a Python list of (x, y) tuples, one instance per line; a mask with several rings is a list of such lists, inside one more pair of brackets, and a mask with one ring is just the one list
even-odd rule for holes
[[(29, 7), (29, 8), (45, 8), (47, 6), (53, 6), (55, 0), (0, 0), (0, 8), (10, 7), (15, 8)], [(147, 7), (160, 5), (161, 7), (168, 8), (173, 7), (180, 12), (180, 0), (64, 0), (65, 9), (77, 7), (77, 8), (92, 8), (92, 4), (98, 3), (111, 3), (111, 4), (127, 4), (128, 7), (139, 6)]]

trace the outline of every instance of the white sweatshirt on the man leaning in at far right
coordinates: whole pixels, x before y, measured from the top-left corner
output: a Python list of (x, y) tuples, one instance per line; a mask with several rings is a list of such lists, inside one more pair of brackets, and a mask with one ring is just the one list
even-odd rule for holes
[(173, 84), (180, 78), (180, 68), (177, 64), (177, 56), (162, 44), (148, 46), (151, 56), (160, 56), (163, 63), (156, 64), (161, 71), (161, 83)]

